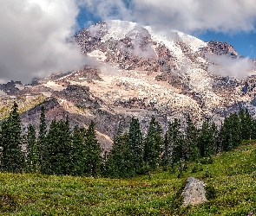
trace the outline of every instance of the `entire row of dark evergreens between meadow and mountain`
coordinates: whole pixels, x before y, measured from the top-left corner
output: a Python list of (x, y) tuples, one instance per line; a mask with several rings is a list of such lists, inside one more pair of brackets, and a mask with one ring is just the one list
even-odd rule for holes
[(0, 125), (0, 169), (13, 173), (127, 178), (159, 167), (173, 170), (181, 168), (181, 163), (184, 166), (186, 162), (213, 162), (214, 154), (237, 148), (242, 140), (250, 139), (256, 139), (256, 120), (243, 109), (226, 117), (220, 130), (210, 119), (199, 129), (187, 115), (185, 127), (175, 118), (164, 135), (153, 117), (145, 137), (139, 120), (132, 118), (128, 132), (120, 126), (113, 148), (108, 156), (103, 156), (93, 121), (88, 129), (75, 126), (71, 130), (69, 118), (54, 119), (47, 130), (42, 106), (38, 133), (30, 124), (22, 134), (18, 106), (14, 103), (10, 116)]

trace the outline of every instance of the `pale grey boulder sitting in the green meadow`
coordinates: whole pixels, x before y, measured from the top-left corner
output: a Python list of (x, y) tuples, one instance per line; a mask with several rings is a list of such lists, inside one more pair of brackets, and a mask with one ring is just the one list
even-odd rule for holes
[(187, 178), (187, 185), (182, 192), (184, 197), (184, 206), (196, 206), (207, 201), (206, 197), (206, 184), (203, 181), (199, 181), (194, 177)]

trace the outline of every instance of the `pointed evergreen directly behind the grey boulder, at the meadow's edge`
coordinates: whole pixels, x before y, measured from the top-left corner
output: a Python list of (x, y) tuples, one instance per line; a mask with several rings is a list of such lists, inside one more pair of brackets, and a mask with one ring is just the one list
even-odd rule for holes
[(198, 130), (195, 127), (190, 115), (187, 115), (187, 127), (186, 127), (186, 142), (184, 145), (184, 159), (189, 161), (196, 161), (200, 157), (200, 151), (198, 149)]

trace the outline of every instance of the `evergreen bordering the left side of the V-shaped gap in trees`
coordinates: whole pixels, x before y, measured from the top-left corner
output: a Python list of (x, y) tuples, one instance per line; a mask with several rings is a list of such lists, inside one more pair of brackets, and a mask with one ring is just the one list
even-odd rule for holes
[(102, 149), (97, 141), (95, 123), (91, 121), (86, 133), (86, 167), (87, 173), (93, 177), (98, 175), (102, 165)]

